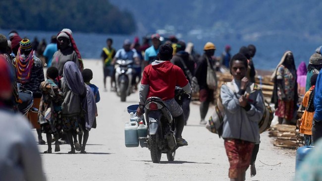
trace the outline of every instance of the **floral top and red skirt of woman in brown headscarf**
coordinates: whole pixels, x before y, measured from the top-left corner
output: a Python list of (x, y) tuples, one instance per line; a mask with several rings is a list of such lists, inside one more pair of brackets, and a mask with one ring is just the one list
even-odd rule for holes
[[(286, 120), (292, 120), (294, 115), (294, 93), (297, 91), (295, 90), (295, 74), (295, 70), (290, 70), (284, 65), (279, 65), (276, 71), (276, 78), (282, 79), (284, 88), (281, 90), (277, 87), (278, 108), (275, 111), (275, 115)], [(282, 91), (284, 92), (285, 100), (282, 99)]]

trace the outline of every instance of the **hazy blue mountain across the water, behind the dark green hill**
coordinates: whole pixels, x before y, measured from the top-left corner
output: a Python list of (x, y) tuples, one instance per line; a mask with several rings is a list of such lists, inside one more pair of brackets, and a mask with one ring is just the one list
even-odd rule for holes
[(130, 11), (138, 33), (161, 30), (203, 37), (321, 39), (322, 1), (109, 0)]

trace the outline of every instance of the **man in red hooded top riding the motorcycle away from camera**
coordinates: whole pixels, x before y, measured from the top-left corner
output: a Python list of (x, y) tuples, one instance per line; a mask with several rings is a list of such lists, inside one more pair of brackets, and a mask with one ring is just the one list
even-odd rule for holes
[(174, 99), (175, 86), (180, 86), (186, 93), (191, 92), (191, 87), (182, 69), (170, 62), (173, 48), (167, 44), (161, 45), (158, 53), (159, 60), (153, 61), (143, 71), (140, 87), (140, 106), (137, 115), (141, 116), (148, 97), (159, 97), (167, 105), (171, 115), (176, 121), (176, 142), (178, 146), (188, 145), (181, 134), (184, 127), (182, 108)]

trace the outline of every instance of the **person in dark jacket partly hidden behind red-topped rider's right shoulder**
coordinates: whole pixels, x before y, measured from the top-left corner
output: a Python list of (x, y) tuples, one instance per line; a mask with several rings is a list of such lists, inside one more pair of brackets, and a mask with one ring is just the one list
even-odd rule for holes
[[(187, 75), (186, 68), (189, 69), (189, 71), (191, 72), (191, 74), (193, 76), (195, 73), (195, 62), (194, 62), (194, 60), (192, 60), (189, 53), (185, 51), (185, 49), (186, 49), (186, 43), (184, 41), (178, 41), (176, 43), (177, 53), (172, 57), (171, 62), (173, 64), (179, 66), (183, 70), (187, 80), (189, 81), (189, 83), (191, 83), (191, 80), (190, 80), (189, 76)], [(182, 97), (182, 110), (183, 110), (185, 125), (187, 124), (189, 114), (190, 114), (190, 101), (191, 101), (190, 97), (188, 97), (188, 96)]]

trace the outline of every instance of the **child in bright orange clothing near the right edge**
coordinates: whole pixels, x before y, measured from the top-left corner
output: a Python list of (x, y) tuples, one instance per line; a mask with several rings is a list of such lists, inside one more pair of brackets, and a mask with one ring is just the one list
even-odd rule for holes
[(311, 87), (309, 91), (307, 91), (304, 95), (302, 101), (302, 107), (305, 107), (305, 111), (301, 118), (301, 125), (300, 125), (300, 133), (304, 134), (304, 145), (305, 146), (313, 146), (313, 139), (312, 139), (312, 124), (313, 124), (313, 117), (314, 117), (314, 89), (315, 84), (318, 78), (318, 74), (314, 74), (311, 77), (310, 83)]

